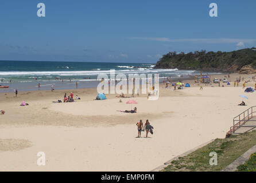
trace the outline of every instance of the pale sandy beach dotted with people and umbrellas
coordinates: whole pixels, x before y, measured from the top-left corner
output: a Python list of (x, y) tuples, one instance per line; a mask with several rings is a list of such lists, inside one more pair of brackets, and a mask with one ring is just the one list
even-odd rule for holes
[[(0, 93), (0, 171), (150, 171), (174, 156), (214, 138), (224, 138), (232, 118), (253, 106), (255, 93), (245, 93), (243, 82), (234, 87), (235, 78), (243, 77), (254, 87), (251, 75), (230, 74), (231, 85), (200, 84), (175, 90), (160, 85), (160, 97), (150, 101), (146, 95), (94, 101), (96, 88)], [(224, 78), (211, 75), (211, 78)], [(211, 79), (212, 80), (212, 79)], [(179, 79), (177, 80), (179, 81)], [(222, 82), (221, 82), (222, 86)], [(81, 100), (63, 100), (73, 92)], [(245, 95), (247, 106), (238, 106)], [(128, 95), (130, 96), (130, 95)], [(119, 100), (122, 102), (119, 102)], [(138, 104), (137, 113), (128, 100)], [(20, 106), (21, 101), (28, 106)], [(138, 120), (149, 120), (154, 134), (137, 137)], [(44, 152), (45, 166), (37, 165), (37, 153)]]

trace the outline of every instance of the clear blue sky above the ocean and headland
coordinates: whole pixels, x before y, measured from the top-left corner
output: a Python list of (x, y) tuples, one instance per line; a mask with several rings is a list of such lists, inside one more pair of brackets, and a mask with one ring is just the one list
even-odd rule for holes
[[(40, 2), (46, 17), (37, 17)], [(1, 0), (0, 60), (153, 63), (169, 51), (253, 47), (255, 8), (255, 0)]]

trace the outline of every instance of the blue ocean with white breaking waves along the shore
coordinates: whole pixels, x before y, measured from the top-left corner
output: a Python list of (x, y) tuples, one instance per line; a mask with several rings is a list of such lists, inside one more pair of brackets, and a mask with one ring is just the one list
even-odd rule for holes
[[(99, 74), (159, 74), (160, 81), (165, 77), (179, 78), (198, 75), (196, 70), (153, 69), (152, 63), (108, 63), (108, 62), (46, 62), (46, 61), (0, 61), (0, 85), (9, 86), (0, 92), (37, 90), (40, 83), (41, 90), (74, 89), (96, 87), (100, 82)], [(208, 74), (219, 74), (210, 73)], [(203, 74), (207, 74), (203, 72)]]

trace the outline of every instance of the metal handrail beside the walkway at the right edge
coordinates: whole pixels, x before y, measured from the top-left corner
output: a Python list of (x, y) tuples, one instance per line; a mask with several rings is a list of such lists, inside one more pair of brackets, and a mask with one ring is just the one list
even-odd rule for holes
[[(241, 114), (238, 114), (238, 116), (233, 118), (233, 126), (230, 127), (230, 133), (235, 133), (237, 129), (241, 128), (243, 124), (245, 124), (247, 121), (253, 118), (253, 114), (256, 113), (256, 110), (253, 110), (253, 108), (256, 108), (256, 106), (252, 106), (251, 108), (245, 110), (244, 112), (242, 112)], [(241, 115), (242, 115), (242, 119), (241, 119)], [(239, 118), (239, 119), (236, 120), (236, 118)], [(235, 124), (235, 121), (238, 121), (238, 122)]]

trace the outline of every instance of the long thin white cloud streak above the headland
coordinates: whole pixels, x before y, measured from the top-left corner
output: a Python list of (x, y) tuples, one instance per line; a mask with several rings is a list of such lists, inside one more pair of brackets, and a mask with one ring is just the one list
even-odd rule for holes
[(191, 38), (191, 39), (170, 39), (165, 37), (132, 37), (130, 39), (142, 39), (149, 41), (160, 42), (203, 42), (203, 43), (251, 43), (256, 42), (256, 39), (232, 39), (232, 38)]

